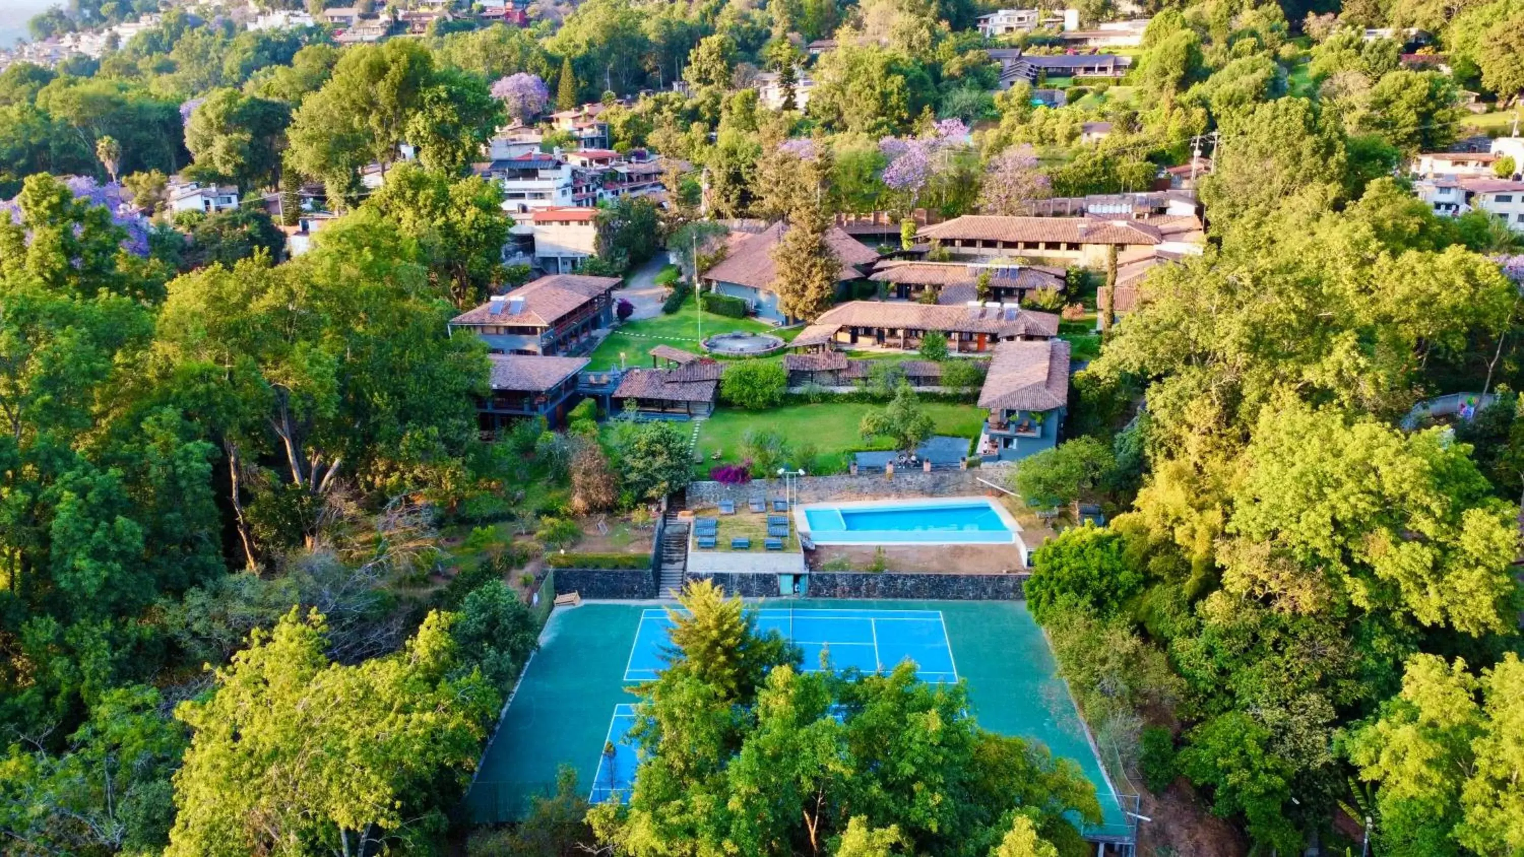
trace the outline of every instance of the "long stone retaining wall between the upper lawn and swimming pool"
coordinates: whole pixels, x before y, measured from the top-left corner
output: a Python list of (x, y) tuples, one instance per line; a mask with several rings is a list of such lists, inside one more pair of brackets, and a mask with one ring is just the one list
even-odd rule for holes
[[(998, 481), (1000, 475), (983, 473), (991, 481)], [(838, 476), (800, 476), (789, 479), (791, 495), (797, 502), (828, 502), (861, 498), (895, 498), (895, 496), (957, 496), (981, 495), (989, 490), (977, 479), (980, 470), (904, 470), (893, 476), (885, 473), (858, 473)], [(725, 486), (713, 481), (692, 483), (687, 486), (687, 505), (715, 505), (722, 499), (733, 499), (738, 505), (745, 505), (748, 498), (783, 496), (783, 479), (754, 479), (745, 486)]]

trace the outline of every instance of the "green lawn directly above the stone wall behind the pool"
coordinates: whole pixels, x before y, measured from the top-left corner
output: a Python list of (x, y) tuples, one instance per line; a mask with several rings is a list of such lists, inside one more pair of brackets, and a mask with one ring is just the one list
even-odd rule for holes
[[(858, 434), (863, 417), (882, 405), (821, 402), (818, 405), (788, 405), (767, 411), (742, 411), (719, 408), (698, 429), (698, 454), (703, 460), (698, 469), (704, 473), (724, 463), (742, 458), (745, 434), (750, 429), (776, 431), (797, 451), (800, 444), (815, 448), (815, 460), (806, 470), (837, 472), (846, 469), (846, 452), (858, 449), (890, 449), (893, 444), (879, 440), (864, 443)], [(922, 408), (937, 422), (937, 434), (952, 437), (978, 437), (985, 423), (985, 411), (974, 405), (948, 405), (924, 402)], [(721, 451), (719, 458), (712, 458)], [(792, 463), (791, 463), (792, 464)]]

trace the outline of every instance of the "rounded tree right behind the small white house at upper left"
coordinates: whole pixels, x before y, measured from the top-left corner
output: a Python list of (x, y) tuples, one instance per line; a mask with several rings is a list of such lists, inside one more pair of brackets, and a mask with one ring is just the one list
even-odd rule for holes
[(290, 122), (291, 111), (280, 102), (212, 90), (190, 113), (186, 149), (206, 180), (253, 192), (276, 183)]

